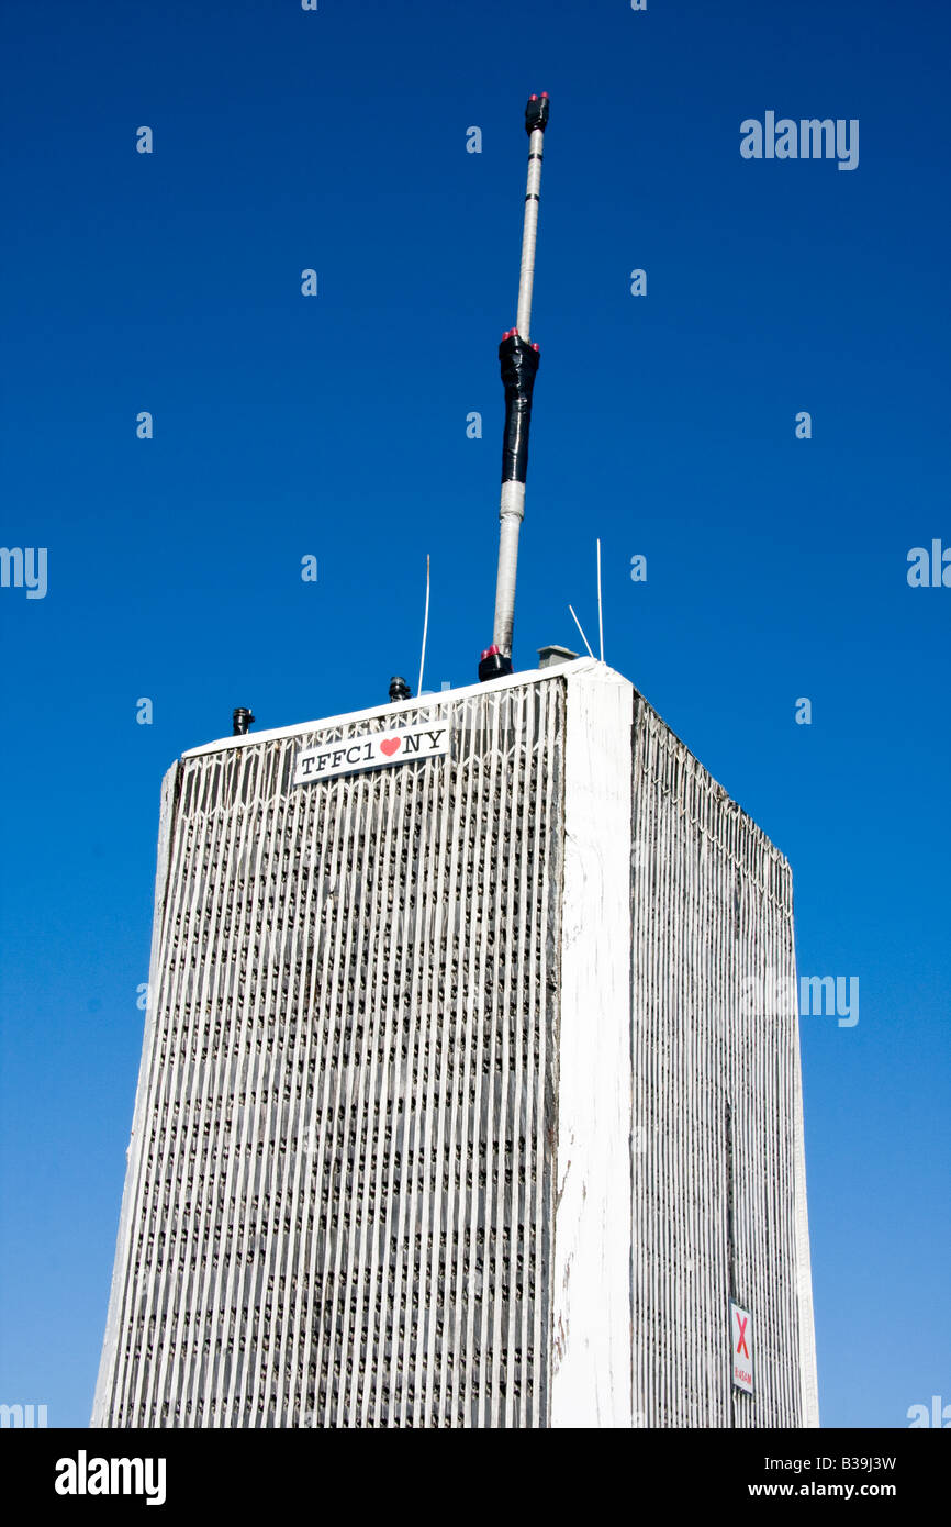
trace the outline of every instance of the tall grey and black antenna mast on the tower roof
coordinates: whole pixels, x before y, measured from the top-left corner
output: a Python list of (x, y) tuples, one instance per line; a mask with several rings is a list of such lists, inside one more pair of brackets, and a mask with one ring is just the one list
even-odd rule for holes
[(542, 188), (542, 144), (548, 125), (548, 93), (531, 96), (525, 107), (528, 133), (528, 183), (522, 226), (522, 269), (516, 327), (502, 334), (499, 365), (505, 388), (505, 432), (502, 437), (502, 501), (499, 505), (499, 571), (495, 594), (492, 646), (482, 652), (479, 678), (511, 673), (511, 626), (514, 621), (514, 580), (519, 560), (519, 530), (525, 513), (525, 473), (528, 469), (528, 426), (531, 391), (539, 370), (539, 347), (531, 344), (531, 287), (534, 246), (539, 228)]

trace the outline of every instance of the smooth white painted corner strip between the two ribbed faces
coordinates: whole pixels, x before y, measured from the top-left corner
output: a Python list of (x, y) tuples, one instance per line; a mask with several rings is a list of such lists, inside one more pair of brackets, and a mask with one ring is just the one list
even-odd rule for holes
[(630, 1426), (630, 722), (633, 689), (572, 678), (553, 1263), (551, 1425)]

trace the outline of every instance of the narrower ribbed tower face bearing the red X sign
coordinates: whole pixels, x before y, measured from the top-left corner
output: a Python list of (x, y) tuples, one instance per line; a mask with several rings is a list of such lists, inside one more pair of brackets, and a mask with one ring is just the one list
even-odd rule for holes
[[(815, 1425), (792, 875), (643, 699), (632, 919), (635, 1411)], [(753, 1394), (724, 1362), (731, 1296)]]

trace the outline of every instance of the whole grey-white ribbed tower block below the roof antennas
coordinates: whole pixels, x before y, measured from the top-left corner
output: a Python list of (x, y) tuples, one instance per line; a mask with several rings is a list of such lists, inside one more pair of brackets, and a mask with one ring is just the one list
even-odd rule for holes
[(791, 872), (633, 687), (176, 762), (93, 1425), (817, 1423)]

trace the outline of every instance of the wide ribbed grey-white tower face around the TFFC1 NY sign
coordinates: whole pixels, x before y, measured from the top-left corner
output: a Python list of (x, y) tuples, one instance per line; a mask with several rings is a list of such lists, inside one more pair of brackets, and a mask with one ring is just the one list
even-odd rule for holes
[(395, 718), (177, 765), (102, 1423), (543, 1419), (563, 705), (403, 709), (452, 753), (299, 786)]

